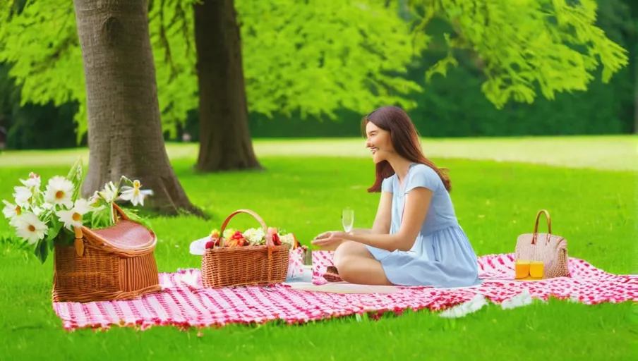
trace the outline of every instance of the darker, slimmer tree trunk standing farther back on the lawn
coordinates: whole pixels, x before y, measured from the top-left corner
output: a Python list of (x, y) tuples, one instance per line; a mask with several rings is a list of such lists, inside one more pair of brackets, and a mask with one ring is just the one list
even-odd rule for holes
[(200, 116), (197, 169), (261, 169), (248, 128), (234, 1), (203, 0), (193, 10)]

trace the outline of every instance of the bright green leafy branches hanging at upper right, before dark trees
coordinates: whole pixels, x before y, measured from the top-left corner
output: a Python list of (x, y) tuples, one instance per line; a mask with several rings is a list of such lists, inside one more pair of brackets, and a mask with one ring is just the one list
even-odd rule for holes
[[(428, 70), (445, 75), (458, 51), (476, 54), (486, 76), (481, 89), (502, 108), (510, 99), (534, 102), (538, 90), (586, 90), (602, 66), (602, 80), (627, 65), (627, 51), (596, 27), (595, 0), (416, 0), (417, 31), (433, 18), (452, 24), (446, 56)], [(538, 90), (536, 89), (538, 85)]]

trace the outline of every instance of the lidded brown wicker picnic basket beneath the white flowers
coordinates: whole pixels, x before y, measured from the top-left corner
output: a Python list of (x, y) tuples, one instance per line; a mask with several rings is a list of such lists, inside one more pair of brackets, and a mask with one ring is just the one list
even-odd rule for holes
[(113, 207), (114, 226), (76, 228), (73, 246), (55, 246), (54, 302), (126, 300), (162, 289), (155, 233)]

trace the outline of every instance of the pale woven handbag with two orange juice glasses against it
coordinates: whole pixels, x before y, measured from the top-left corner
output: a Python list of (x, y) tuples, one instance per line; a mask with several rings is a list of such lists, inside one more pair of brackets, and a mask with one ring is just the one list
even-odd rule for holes
[[(541, 214), (547, 219), (547, 233), (538, 233)], [(536, 214), (534, 233), (519, 235), (515, 250), (516, 278), (551, 279), (570, 276), (567, 240), (552, 234), (549, 213), (545, 209)]]

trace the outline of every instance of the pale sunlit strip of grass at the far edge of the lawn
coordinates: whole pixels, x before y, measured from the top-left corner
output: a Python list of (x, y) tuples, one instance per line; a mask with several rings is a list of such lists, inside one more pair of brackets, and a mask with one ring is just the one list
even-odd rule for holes
[[(522, 161), (534, 164), (638, 171), (638, 137), (615, 135), (605, 137), (506, 137), (506, 138), (423, 138), (423, 151), (431, 158)], [(363, 140), (255, 140), (259, 157), (368, 157)], [(198, 145), (169, 143), (171, 159), (197, 157)], [(66, 165), (78, 156), (88, 159), (88, 149), (66, 149), (56, 152), (28, 151), (0, 153), (0, 166)]]

